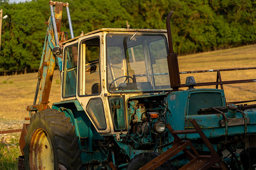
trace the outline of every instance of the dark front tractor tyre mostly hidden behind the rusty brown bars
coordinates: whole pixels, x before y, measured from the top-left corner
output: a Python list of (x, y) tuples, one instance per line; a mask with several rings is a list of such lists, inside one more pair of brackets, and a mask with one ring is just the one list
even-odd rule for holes
[[(137, 170), (137, 169), (143, 167), (144, 165), (146, 165), (147, 163), (149, 163), (151, 160), (155, 159), (157, 156), (159, 156), (159, 154), (156, 152), (146, 152), (146, 153), (138, 154), (138, 155), (134, 156), (133, 159), (131, 159), (130, 163), (127, 166), (127, 170)], [(175, 170), (176, 168), (168, 160), (167, 162), (163, 163), (156, 169), (157, 170), (158, 169)]]

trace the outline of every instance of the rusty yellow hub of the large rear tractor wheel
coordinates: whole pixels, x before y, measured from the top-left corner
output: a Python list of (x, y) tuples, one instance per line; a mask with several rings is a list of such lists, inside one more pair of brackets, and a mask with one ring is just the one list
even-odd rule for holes
[(37, 129), (31, 138), (30, 169), (54, 169), (51, 139), (43, 129)]

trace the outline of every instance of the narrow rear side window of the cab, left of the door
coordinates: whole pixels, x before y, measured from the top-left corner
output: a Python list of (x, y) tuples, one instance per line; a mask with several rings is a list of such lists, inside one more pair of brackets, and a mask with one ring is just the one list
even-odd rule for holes
[(77, 81), (77, 43), (64, 49), (64, 74), (63, 74), (63, 96), (76, 95)]

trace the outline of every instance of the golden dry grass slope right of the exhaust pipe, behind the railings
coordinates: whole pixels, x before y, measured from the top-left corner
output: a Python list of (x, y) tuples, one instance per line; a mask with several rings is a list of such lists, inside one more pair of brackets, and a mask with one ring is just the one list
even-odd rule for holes
[[(256, 45), (181, 56), (178, 59), (180, 71), (255, 67)], [(255, 73), (256, 70), (222, 71), (221, 78), (222, 81), (255, 79)], [(217, 72), (181, 74), (181, 83), (185, 83), (185, 78), (191, 75), (195, 77), (196, 82), (216, 82)], [(215, 86), (206, 88), (215, 88)], [(256, 83), (226, 84), (224, 90), (228, 102), (256, 99)]]

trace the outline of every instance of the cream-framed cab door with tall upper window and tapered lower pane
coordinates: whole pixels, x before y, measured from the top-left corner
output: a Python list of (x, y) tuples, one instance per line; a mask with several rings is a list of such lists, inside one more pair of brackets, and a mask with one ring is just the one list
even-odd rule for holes
[(82, 37), (79, 40), (79, 79), (77, 99), (98, 131), (109, 133), (108, 116), (102, 89), (101, 32)]

